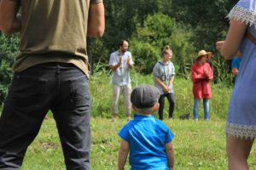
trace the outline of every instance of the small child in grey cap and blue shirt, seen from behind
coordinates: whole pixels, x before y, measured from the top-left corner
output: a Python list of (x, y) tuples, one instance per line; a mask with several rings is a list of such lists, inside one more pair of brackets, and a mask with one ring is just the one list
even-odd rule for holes
[(154, 116), (159, 108), (160, 91), (154, 86), (141, 85), (131, 93), (131, 104), (136, 114), (123, 127), (119, 136), (118, 169), (123, 170), (130, 151), (131, 170), (170, 170), (174, 164), (172, 139), (174, 134)]

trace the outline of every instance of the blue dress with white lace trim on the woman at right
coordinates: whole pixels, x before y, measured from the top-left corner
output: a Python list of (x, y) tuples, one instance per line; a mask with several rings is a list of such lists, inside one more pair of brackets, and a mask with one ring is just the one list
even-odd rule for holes
[[(256, 1), (240, 0), (228, 15), (230, 20), (247, 23), (247, 31), (256, 37)], [(241, 66), (230, 99), (226, 133), (237, 138), (256, 136), (256, 45), (247, 37), (240, 44)]]

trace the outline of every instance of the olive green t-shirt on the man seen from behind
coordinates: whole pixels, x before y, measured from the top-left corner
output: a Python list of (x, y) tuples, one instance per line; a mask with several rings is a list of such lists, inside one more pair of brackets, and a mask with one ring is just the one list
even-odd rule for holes
[(14, 71), (47, 62), (73, 63), (89, 77), (86, 51), (90, 3), (102, 0), (17, 0), (21, 7), (20, 54)]

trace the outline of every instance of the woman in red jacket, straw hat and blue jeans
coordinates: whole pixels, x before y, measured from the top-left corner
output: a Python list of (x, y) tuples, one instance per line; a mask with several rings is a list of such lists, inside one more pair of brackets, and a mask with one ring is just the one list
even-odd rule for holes
[(213, 78), (213, 73), (211, 66), (207, 63), (207, 59), (211, 57), (211, 52), (201, 50), (191, 67), (194, 95), (193, 116), (195, 121), (198, 120), (198, 107), (201, 99), (203, 99), (205, 121), (209, 120), (209, 99), (212, 98), (210, 81)]

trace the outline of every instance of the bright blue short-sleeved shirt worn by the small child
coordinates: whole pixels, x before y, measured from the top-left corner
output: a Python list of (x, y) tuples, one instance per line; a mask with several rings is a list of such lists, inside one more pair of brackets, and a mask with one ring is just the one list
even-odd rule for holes
[(130, 145), (131, 170), (169, 169), (165, 145), (172, 141), (174, 134), (165, 123), (154, 116), (134, 115), (119, 136)]

